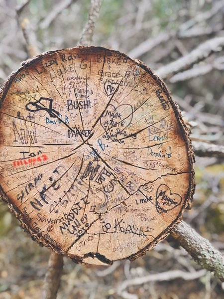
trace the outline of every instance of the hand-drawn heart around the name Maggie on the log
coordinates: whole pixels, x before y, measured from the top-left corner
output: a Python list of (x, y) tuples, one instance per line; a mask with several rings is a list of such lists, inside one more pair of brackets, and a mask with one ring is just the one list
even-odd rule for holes
[(161, 184), (156, 190), (156, 210), (159, 214), (173, 210), (181, 201), (182, 197), (177, 193), (171, 193), (165, 184)]

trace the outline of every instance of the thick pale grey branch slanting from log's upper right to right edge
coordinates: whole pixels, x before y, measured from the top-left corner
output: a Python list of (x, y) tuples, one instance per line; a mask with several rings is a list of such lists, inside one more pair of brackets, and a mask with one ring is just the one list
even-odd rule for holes
[(224, 48), (224, 37), (215, 37), (199, 45), (195, 50), (189, 54), (173, 61), (161, 68), (155, 73), (166, 79), (172, 75), (190, 68), (193, 64), (198, 63), (201, 60), (206, 59), (214, 52), (219, 52)]

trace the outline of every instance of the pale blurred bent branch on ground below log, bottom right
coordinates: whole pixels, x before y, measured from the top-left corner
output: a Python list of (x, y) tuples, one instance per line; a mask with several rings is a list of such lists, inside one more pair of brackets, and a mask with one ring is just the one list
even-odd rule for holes
[(129, 286), (139, 286), (150, 282), (171, 281), (177, 278), (182, 278), (184, 280), (194, 280), (204, 276), (205, 274), (206, 270), (200, 270), (198, 272), (184, 272), (180, 270), (173, 270), (163, 273), (149, 274), (144, 277), (137, 277), (122, 282), (117, 288), (117, 294), (122, 298), (138, 299), (137, 295), (129, 294), (124, 290)]

